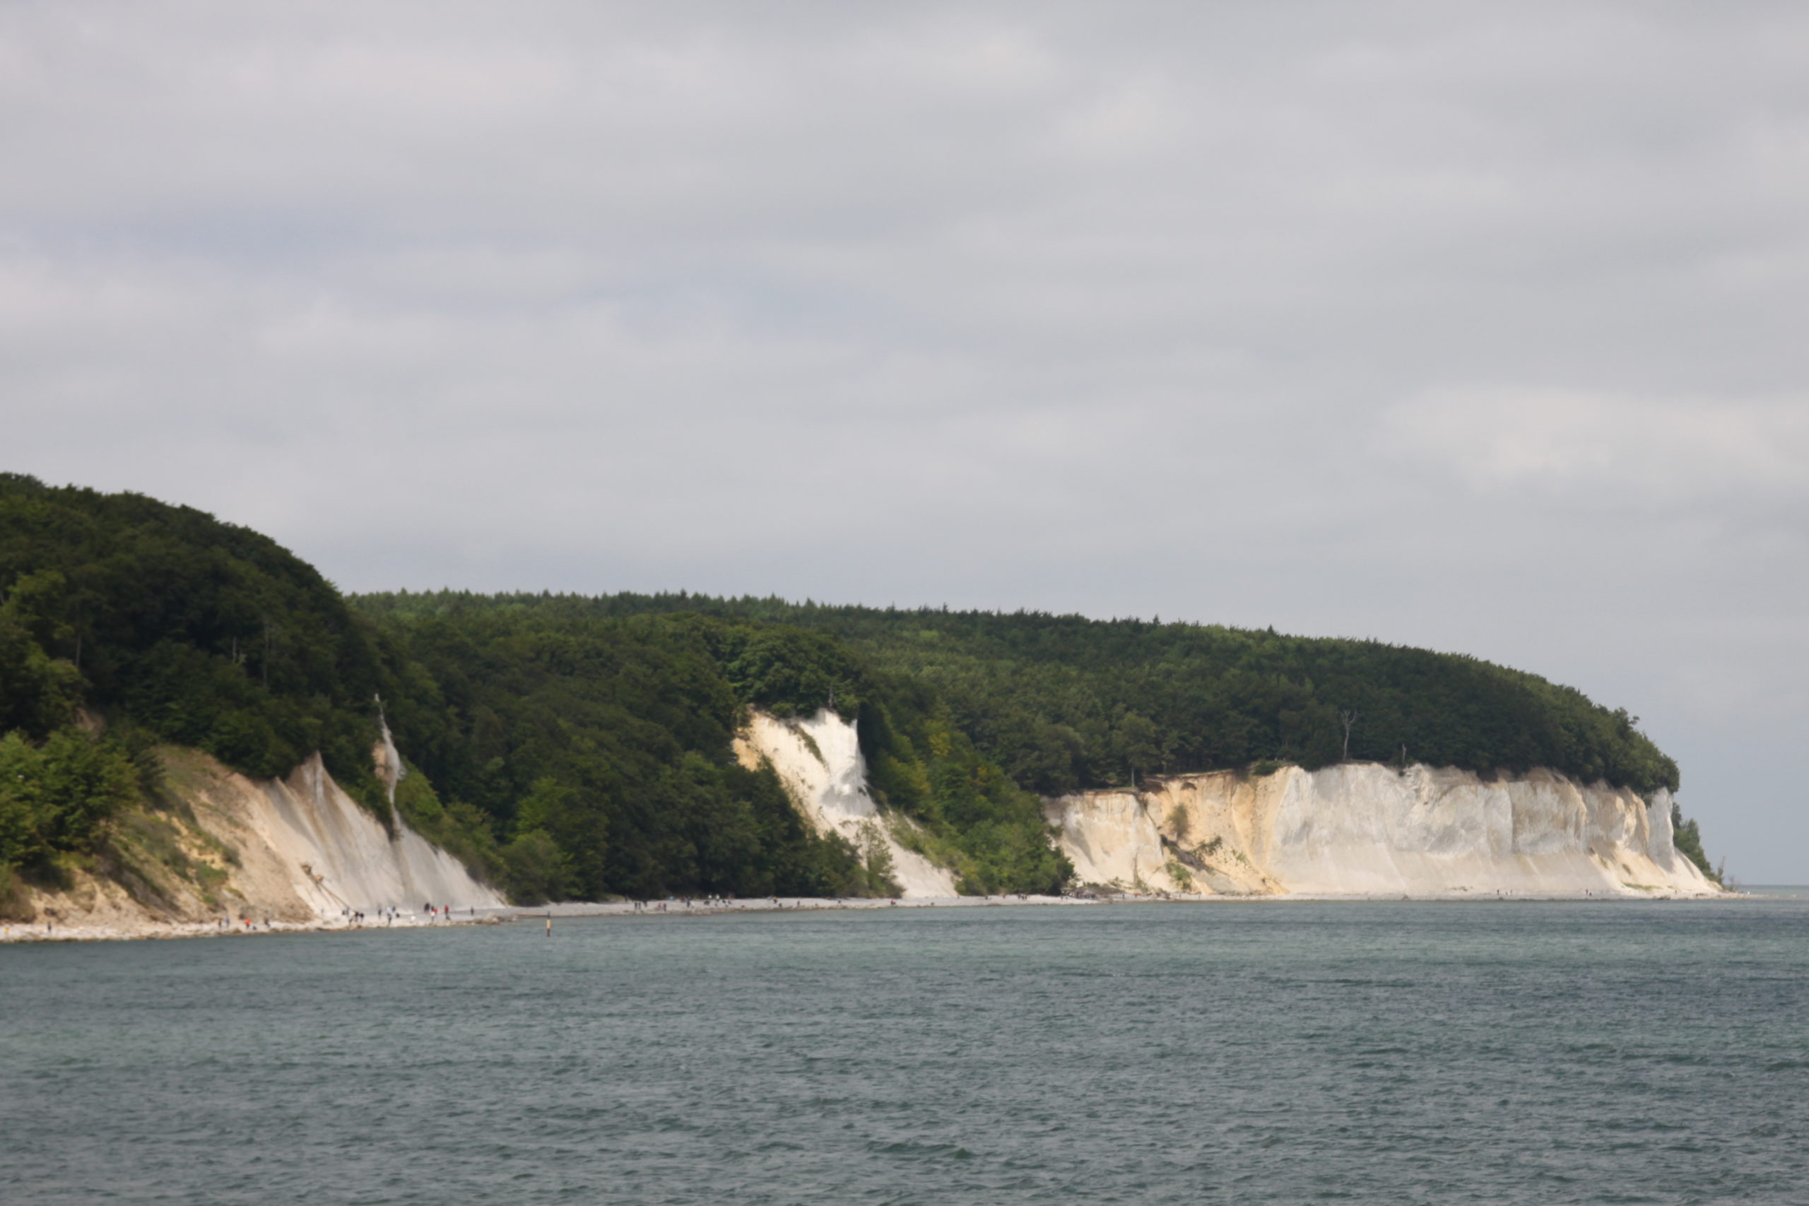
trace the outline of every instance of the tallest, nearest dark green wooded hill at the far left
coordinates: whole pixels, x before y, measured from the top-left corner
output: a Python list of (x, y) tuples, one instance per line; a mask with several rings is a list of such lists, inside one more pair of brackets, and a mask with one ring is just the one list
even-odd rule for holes
[(81, 703), (257, 776), (320, 750), (374, 797), (374, 633), (270, 537), (5, 474), (0, 598), (0, 730), (42, 740)]

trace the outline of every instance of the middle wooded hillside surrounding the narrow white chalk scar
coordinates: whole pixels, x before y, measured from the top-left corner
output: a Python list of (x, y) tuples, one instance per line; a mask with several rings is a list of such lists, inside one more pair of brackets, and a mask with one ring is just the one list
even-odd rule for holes
[[(403, 651), (391, 721), (441, 794), (499, 834), (554, 839), (554, 891), (883, 891), (883, 868), (809, 837), (771, 772), (733, 763), (745, 705), (861, 720), (874, 777), (973, 891), (1066, 879), (1040, 803), (939, 702), (868, 674), (821, 633), (698, 615), (378, 611)], [(525, 852), (514, 850), (519, 862)]]

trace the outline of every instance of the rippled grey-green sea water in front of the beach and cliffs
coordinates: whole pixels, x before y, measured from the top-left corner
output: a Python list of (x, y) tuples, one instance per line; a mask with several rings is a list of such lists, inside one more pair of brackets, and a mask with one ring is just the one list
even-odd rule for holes
[(0, 947), (0, 1201), (1809, 1202), (1809, 900)]

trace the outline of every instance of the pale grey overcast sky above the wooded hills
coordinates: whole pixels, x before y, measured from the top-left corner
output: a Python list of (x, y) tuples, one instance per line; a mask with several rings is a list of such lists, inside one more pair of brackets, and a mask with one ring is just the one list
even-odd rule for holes
[(1628, 707), (1809, 881), (1809, 7), (0, 2), (0, 468)]

